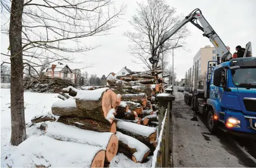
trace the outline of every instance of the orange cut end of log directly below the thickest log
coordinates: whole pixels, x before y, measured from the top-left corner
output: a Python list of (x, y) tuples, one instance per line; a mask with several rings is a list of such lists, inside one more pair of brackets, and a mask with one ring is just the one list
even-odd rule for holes
[(118, 150), (118, 138), (111, 135), (108, 146), (106, 147), (106, 162), (110, 162), (116, 156)]

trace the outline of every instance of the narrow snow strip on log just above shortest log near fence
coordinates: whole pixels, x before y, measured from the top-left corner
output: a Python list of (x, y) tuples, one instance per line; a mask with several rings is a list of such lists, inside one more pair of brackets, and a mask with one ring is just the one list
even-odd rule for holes
[(118, 121), (117, 122), (117, 127), (124, 129), (124, 130), (129, 130), (130, 132), (137, 133), (140, 135), (144, 136), (150, 136), (151, 134), (155, 133), (157, 130), (154, 127), (147, 127), (143, 125), (137, 125), (136, 123), (132, 122), (125, 122), (125, 121)]

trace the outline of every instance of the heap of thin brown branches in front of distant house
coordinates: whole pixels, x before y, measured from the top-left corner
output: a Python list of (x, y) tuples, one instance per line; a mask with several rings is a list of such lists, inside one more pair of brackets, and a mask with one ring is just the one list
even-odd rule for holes
[(77, 85), (67, 79), (51, 78), (45, 75), (37, 77), (26, 76), (23, 79), (24, 90), (38, 93), (58, 93), (63, 87)]

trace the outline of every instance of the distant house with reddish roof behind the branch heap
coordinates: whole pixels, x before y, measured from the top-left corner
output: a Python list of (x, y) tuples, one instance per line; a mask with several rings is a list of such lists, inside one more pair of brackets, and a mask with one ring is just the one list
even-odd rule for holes
[(60, 62), (56, 65), (52, 64), (52, 68), (46, 68), (42, 71), (42, 73), (52, 78), (62, 78), (62, 79), (68, 79), (73, 83), (76, 82), (75, 73), (68, 67), (67, 64), (63, 64)]

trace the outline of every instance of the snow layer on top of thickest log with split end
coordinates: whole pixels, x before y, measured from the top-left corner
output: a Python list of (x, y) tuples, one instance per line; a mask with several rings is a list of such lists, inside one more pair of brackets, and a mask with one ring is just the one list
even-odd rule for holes
[(109, 89), (109, 87), (103, 87), (95, 90), (78, 90), (76, 94), (77, 99), (82, 100), (98, 100), (101, 98), (102, 93)]

